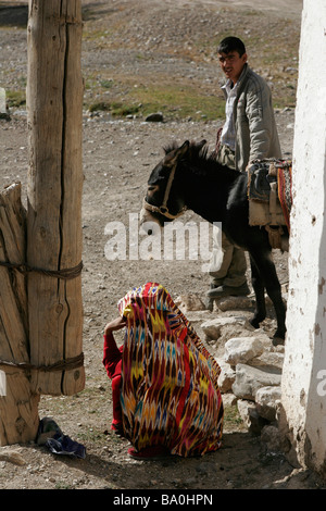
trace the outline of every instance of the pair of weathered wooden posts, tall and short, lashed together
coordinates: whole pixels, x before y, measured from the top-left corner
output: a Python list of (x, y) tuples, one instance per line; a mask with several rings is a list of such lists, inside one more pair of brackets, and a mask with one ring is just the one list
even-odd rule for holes
[(34, 440), (41, 394), (85, 386), (80, 0), (29, 0), (27, 211), (0, 194), (0, 445)]

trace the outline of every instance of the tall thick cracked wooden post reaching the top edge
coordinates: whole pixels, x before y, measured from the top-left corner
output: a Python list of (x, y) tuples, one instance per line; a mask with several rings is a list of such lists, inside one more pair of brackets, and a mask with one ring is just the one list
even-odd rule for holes
[(27, 264), (41, 270), (27, 279), (30, 363), (48, 369), (32, 386), (72, 395), (85, 385), (80, 0), (29, 0), (27, 49)]

